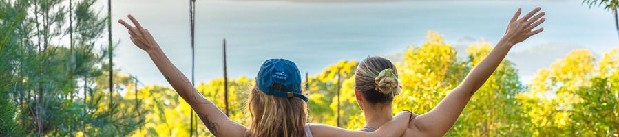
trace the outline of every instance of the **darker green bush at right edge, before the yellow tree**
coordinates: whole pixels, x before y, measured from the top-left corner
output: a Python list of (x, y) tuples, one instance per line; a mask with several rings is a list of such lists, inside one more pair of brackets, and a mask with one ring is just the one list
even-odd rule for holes
[(619, 49), (605, 53), (598, 62), (591, 85), (576, 90), (582, 99), (574, 104), (574, 132), (583, 136), (619, 134)]

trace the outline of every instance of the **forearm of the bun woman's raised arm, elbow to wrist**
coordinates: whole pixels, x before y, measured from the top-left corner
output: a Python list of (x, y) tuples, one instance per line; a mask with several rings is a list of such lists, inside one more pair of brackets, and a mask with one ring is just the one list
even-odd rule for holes
[[(499, 40), (496, 46), (486, 55), (479, 64), (475, 65), (470, 73), (465, 77), (460, 84), (462, 92), (469, 92), (470, 95), (474, 94), (485, 81), (494, 73), (496, 68), (501, 64), (505, 55), (512, 49), (514, 44), (507, 42), (504, 38)], [(457, 90), (454, 90), (457, 91)]]

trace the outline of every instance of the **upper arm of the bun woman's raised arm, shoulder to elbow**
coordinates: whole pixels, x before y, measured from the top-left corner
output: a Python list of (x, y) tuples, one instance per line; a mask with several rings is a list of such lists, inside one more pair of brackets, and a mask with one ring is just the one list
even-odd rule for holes
[(409, 131), (428, 136), (443, 136), (457, 121), (470, 96), (468, 88), (460, 86), (454, 88), (430, 112), (412, 119), (409, 123)]

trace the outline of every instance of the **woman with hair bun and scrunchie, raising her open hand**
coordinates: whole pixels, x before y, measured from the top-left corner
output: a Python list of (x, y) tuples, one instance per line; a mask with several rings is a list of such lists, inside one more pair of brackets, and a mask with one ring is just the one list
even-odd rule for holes
[[(521, 9), (518, 8), (518, 12), (507, 25), (503, 38), (494, 49), (436, 107), (426, 114), (413, 114), (403, 136), (445, 135), (472, 95), (501, 64), (512, 46), (544, 30), (543, 27), (533, 30), (546, 20), (542, 18), (545, 12), (536, 14), (540, 10), (535, 8), (518, 19), (521, 14)], [(392, 121), (391, 103), (393, 97), (402, 91), (397, 76), (397, 69), (385, 58), (369, 57), (359, 63), (355, 71), (355, 98), (366, 116), (365, 126), (361, 131), (374, 132), (381, 129), (384, 123)]]

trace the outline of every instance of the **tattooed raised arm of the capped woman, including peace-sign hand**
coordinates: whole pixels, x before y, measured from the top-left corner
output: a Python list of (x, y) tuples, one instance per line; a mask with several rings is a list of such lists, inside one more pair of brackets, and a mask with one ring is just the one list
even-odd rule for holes
[(178, 71), (176, 66), (165, 56), (165, 53), (161, 51), (148, 30), (144, 29), (133, 16), (129, 15), (129, 19), (136, 27), (132, 27), (123, 20), (118, 22), (129, 29), (132, 42), (148, 53), (163, 77), (171, 84), (178, 95), (191, 105), (191, 108), (196, 111), (202, 123), (211, 133), (215, 136), (244, 136), (247, 128), (228, 119), (215, 104), (202, 96), (196, 88), (193, 88), (189, 79)]

